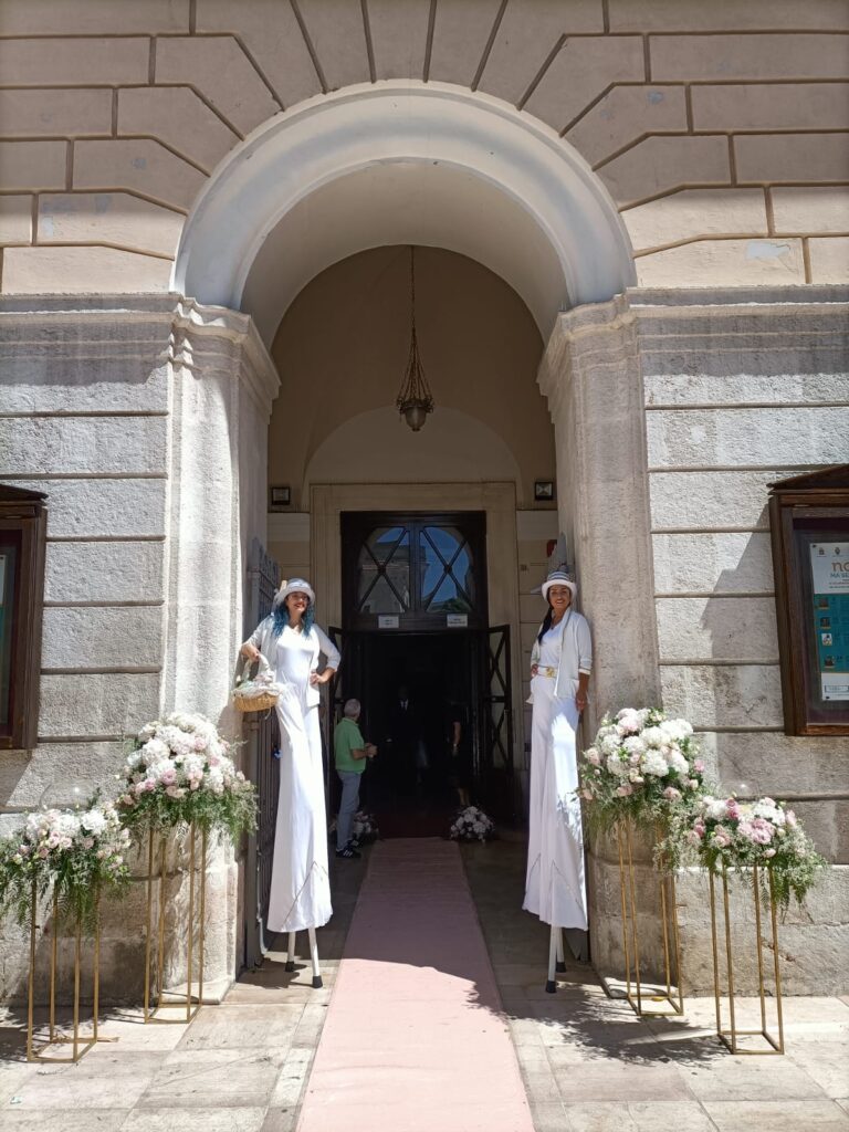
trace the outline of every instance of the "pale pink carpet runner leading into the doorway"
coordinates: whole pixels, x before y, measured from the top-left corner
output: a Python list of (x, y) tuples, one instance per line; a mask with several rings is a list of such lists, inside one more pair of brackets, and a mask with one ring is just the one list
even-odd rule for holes
[(457, 846), (380, 842), (298, 1132), (533, 1132), (500, 1011)]

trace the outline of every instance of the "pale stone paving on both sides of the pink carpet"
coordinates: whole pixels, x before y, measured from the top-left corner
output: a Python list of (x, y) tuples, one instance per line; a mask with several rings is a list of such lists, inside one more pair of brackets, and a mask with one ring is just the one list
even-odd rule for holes
[[(685, 1019), (641, 1021), (578, 963), (547, 995), (548, 932), (520, 909), (523, 846), (465, 846), (463, 857), (537, 1132), (849, 1132), (849, 997), (786, 998), (787, 1055), (734, 1057), (711, 1036), (712, 1000), (689, 1000)], [(293, 1132), (366, 861), (332, 867), (323, 990), (308, 963), (286, 975), (273, 953), (188, 1027), (110, 1011), (102, 1032), (120, 1040), (76, 1066), (28, 1065), (25, 1019), (9, 1011), (0, 1130)]]

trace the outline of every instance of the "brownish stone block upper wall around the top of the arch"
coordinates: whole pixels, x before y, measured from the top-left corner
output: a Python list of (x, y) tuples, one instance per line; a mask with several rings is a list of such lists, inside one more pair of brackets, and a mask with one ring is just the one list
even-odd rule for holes
[(186, 215), (242, 138), (391, 78), (471, 87), (550, 126), (621, 211), (641, 285), (849, 277), (839, 0), (120, 8), (0, 12), (1, 293), (166, 291)]

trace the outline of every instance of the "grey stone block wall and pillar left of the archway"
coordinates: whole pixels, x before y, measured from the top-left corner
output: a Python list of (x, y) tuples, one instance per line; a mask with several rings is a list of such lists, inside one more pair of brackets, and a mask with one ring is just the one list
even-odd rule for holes
[[(246, 316), (175, 295), (0, 300), (0, 480), (48, 496), (38, 741), (0, 755), (5, 834), (28, 808), (111, 792), (123, 737), (163, 712), (238, 735), (229, 679), (278, 378)], [(215, 848), (213, 987), (240, 961), (235, 869)], [(144, 875), (134, 861), (129, 904), (105, 911), (106, 998), (142, 985)], [(179, 915), (177, 863), (168, 883)], [(10, 924), (0, 933), (0, 998), (16, 998), (27, 950)], [(182, 962), (178, 947), (178, 981)]]

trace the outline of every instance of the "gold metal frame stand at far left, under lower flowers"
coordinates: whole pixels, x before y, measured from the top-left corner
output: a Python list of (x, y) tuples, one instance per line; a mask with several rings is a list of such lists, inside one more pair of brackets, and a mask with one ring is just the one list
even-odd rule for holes
[[(57, 972), (59, 970), (59, 898), (53, 898), (53, 938), (50, 947), (50, 1013), (48, 1019), (48, 1040), (35, 1045), (33, 1014), (35, 1009), (35, 943), (38, 932), (38, 892), (35, 882), (31, 897), (31, 927), (29, 927), (29, 977), (27, 986), (27, 1027), (26, 1027), (26, 1060), (28, 1062), (78, 1062), (92, 1046), (98, 1041), (118, 1041), (118, 1038), (104, 1038), (97, 1032), (97, 1014), (100, 1013), (100, 987), (101, 987), (101, 909), (100, 893), (95, 904), (94, 925), (94, 960), (92, 974), (92, 1029), (82, 1034), (79, 1029), (79, 986), (80, 967), (83, 953), (83, 925), (77, 919), (74, 923), (74, 1032), (65, 1034), (57, 1026), (55, 1000), (57, 1000)], [(53, 1045), (71, 1045), (70, 1057), (57, 1057), (46, 1055), (45, 1049)]]

